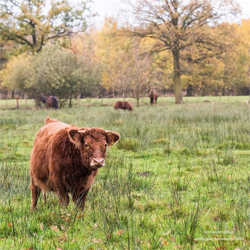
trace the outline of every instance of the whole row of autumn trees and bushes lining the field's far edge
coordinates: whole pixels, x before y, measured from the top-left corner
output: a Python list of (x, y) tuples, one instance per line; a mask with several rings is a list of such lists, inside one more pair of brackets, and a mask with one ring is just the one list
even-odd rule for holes
[[(39, 106), (41, 95), (55, 95), (71, 106), (76, 97), (133, 97), (139, 104), (150, 89), (177, 96), (176, 103), (185, 95), (249, 95), (250, 20), (212, 25), (222, 12), (212, 15), (207, 1), (185, 2), (133, 6), (147, 22), (107, 18), (97, 30), (87, 29), (88, 1), (78, 12), (63, 1), (45, 16), (43, 1), (0, 0), (2, 20), (9, 20), (0, 24), (1, 97), (15, 91)], [(16, 14), (8, 19), (11, 7)]]

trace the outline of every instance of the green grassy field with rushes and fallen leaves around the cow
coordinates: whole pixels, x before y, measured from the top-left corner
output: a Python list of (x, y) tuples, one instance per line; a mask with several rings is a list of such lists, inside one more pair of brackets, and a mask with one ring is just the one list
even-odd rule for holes
[[(57, 111), (35, 110), (30, 100), (28, 110), (22, 103), (19, 111), (4, 110), (1, 101), (0, 249), (249, 249), (246, 99), (184, 98), (173, 105), (173, 98), (161, 98), (156, 107), (144, 99), (133, 112), (100, 106), (100, 99)], [(121, 135), (84, 212), (72, 201), (60, 207), (51, 193), (46, 206), (39, 199), (38, 211), (30, 211), (29, 158), (47, 116)]]

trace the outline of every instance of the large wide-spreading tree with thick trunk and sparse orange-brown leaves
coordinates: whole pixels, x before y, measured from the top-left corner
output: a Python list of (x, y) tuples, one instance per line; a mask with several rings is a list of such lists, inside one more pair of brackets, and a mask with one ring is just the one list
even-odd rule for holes
[(236, 13), (233, 1), (211, 0), (128, 0), (134, 10), (136, 26), (130, 33), (134, 36), (155, 39), (153, 52), (170, 50), (173, 57), (175, 103), (182, 102), (180, 53), (189, 46), (223, 53), (227, 44), (224, 34), (208, 32), (217, 21), (228, 13)]

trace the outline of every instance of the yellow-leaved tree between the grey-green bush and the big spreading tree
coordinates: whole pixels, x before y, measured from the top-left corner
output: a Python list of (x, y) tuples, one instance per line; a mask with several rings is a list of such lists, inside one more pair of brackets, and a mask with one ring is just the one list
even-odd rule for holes
[(137, 101), (145, 96), (150, 83), (151, 55), (142, 39), (125, 37), (114, 19), (106, 22), (98, 34), (97, 56), (103, 65), (102, 84), (120, 96)]

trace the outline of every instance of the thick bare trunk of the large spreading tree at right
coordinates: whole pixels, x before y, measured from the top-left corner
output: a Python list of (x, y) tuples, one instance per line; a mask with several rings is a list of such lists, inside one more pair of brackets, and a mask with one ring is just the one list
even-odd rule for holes
[(174, 88), (175, 88), (175, 104), (182, 103), (181, 94), (181, 72), (180, 72), (180, 51), (178, 49), (173, 50), (174, 58)]

